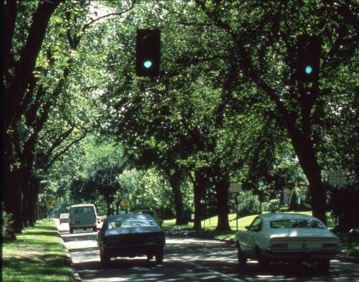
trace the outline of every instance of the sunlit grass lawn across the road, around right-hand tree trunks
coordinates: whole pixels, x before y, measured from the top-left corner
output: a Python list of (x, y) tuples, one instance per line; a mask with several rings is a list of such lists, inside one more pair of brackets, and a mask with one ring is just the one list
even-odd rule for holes
[[(295, 213), (294, 211), (287, 211), (287, 213)], [(311, 211), (299, 211), (297, 213), (304, 213), (311, 216)], [(245, 230), (245, 226), (250, 225), (252, 220), (257, 215), (245, 216), (243, 218), (238, 218), (238, 230)], [(330, 214), (328, 216), (328, 227), (334, 227), (334, 220), (330, 220)], [(236, 234), (236, 213), (229, 214), (229, 225), (231, 227), (230, 231), (216, 231), (217, 227), (217, 216), (202, 220), (202, 230), (194, 232), (198, 237), (205, 237), (208, 239), (234, 239)], [(177, 229), (177, 230), (192, 230), (194, 223), (189, 222), (187, 225), (175, 225), (175, 219), (164, 220), (163, 229)], [(358, 237), (348, 237), (344, 233), (335, 232), (341, 240), (341, 254), (349, 255), (355, 258), (359, 258), (359, 239)]]

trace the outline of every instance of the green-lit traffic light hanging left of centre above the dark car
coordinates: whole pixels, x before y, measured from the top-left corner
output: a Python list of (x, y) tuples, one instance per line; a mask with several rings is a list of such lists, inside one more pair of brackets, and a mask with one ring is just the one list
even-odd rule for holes
[(161, 61), (161, 32), (159, 29), (137, 29), (136, 74), (158, 76)]

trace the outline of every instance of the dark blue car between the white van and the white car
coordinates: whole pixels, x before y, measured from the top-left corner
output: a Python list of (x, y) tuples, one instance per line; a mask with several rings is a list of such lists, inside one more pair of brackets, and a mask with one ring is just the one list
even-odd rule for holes
[(109, 216), (97, 233), (100, 260), (106, 265), (111, 258), (135, 258), (147, 255), (163, 262), (165, 234), (153, 216), (147, 213), (128, 213)]

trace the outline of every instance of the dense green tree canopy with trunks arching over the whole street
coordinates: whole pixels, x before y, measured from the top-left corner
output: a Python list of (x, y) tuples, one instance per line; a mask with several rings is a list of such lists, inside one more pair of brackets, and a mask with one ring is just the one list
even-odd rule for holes
[[(227, 230), (230, 183), (275, 197), (304, 176), (325, 220), (329, 171), (359, 183), (358, 14), (357, 1), (331, 0), (5, 1), (4, 207), (15, 231), (50, 191), (59, 205), (100, 197), (109, 210), (132, 193), (158, 208), (160, 190), (177, 223), (194, 209), (196, 228), (212, 193)], [(161, 30), (155, 78), (135, 75), (140, 28)], [(313, 83), (297, 79), (302, 34), (320, 37)]]

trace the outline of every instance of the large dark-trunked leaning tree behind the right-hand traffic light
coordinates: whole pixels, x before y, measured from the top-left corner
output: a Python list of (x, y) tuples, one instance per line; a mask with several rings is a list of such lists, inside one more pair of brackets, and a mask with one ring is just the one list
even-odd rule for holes
[[(320, 118), (324, 116), (323, 111), (319, 111), (323, 107), (320, 101), (332, 94), (325, 80), (338, 78), (327, 70), (352, 58), (358, 48), (358, 28), (354, 24), (358, 20), (353, 16), (358, 12), (358, 3), (351, 1), (348, 6), (340, 3), (334, 8), (332, 1), (326, 2), (301, 1), (297, 5), (266, 1), (258, 5), (255, 1), (196, 0), (209, 22), (226, 31), (236, 44), (243, 76), (255, 83), (263, 101), (270, 99), (275, 105), (273, 117), (278, 116), (287, 127), (287, 134), (309, 181), (313, 215), (324, 221), (325, 188), (317, 146), (320, 142), (314, 138), (316, 129), (321, 126)], [(317, 31), (322, 34), (325, 72), (320, 73), (318, 83), (313, 85), (297, 83), (293, 67), (296, 36)], [(344, 41), (351, 44), (342, 52), (339, 42)]]

